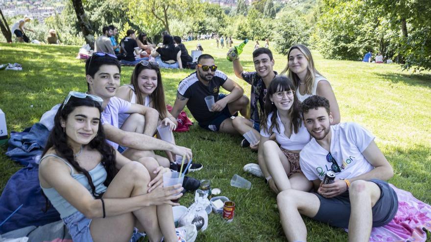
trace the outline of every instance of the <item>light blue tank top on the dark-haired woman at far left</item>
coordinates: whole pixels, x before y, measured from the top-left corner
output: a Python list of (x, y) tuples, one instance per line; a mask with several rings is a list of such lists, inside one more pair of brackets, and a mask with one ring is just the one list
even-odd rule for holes
[[(40, 162), (42, 162), (45, 158), (47, 158), (49, 156), (59, 158), (64, 163), (66, 163), (66, 165), (68, 165), (69, 168), (71, 169), (71, 176), (75, 180), (77, 180), (79, 183), (81, 183), (85, 188), (87, 188), (87, 190), (91, 194), (91, 187), (90, 187), (90, 184), (88, 183), (87, 177), (84, 176), (84, 174), (74, 174), (72, 165), (67, 160), (65, 160), (65, 159), (63, 159), (63, 158), (61, 158), (55, 154), (47, 154), (40, 160)], [(93, 184), (96, 187), (96, 193), (104, 193), (106, 191), (106, 186), (103, 185), (103, 182), (105, 182), (105, 180), (106, 180), (107, 173), (106, 173), (106, 170), (103, 167), (102, 163), (98, 163), (96, 165), (96, 167), (93, 168), (92, 170), (88, 171), (88, 173), (90, 174), (91, 178), (93, 179)], [(39, 183), (39, 185), (40, 185), (40, 183)], [(60, 214), (61, 219), (69, 217), (70, 215), (72, 215), (78, 211), (68, 201), (66, 201), (66, 199), (61, 197), (61, 195), (53, 187), (52, 188), (44, 188), (44, 187), (42, 187), (42, 185), (40, 185), (40, 186), (42, 188), (42, 191), (44, 191), (45, 195), (49, 199), (49, 201), (52, 203), (52, 206), (54, 206), (54, 208)]]

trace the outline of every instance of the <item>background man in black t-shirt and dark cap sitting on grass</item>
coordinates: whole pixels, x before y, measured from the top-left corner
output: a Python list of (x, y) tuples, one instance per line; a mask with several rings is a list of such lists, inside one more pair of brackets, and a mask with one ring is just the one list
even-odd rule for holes
[(137, 55), (141, 54), (141, 51), (138, 47), (138, 43), (136, 42), (135, 30), (129, 29), (126, 32), (127, 36), (124, 37), (121, 42), (121, 53), (124, 53), (125, 56), (121, 58), (121, 64), (135, 66), (140, 61), (148, 60), (148, 57), (144, 58), (135, 58), (135, 53)]

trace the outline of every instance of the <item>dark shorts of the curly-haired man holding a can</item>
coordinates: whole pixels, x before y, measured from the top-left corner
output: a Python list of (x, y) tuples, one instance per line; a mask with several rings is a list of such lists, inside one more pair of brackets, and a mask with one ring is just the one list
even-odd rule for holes
[[(389, 184), (382, 180), (370, 180), (380, 188), (380, 198), (372, 208), (373, 227), (383, 226), (394, 219), (398, 211), (398, 197)], [(320, 200), (319, 211), (313, 220), (329, 223), (332, 226), (347, 228), (350, 219), (350, 198), (346, 191), (335, 198), (325, 198), (315, 193)]]

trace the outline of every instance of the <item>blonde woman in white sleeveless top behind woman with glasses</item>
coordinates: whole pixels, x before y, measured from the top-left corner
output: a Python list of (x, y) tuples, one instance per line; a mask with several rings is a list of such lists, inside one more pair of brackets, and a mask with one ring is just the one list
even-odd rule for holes
[(295, 92), (298, 100), (303, 102), (311, 95), (318, 95), (329, 100), (333, 124), (340, 122), (340, 110), (335, 98), (331, 84), (314, 67), (311, 51), (303, 44), (290, 47), (287, 53), (287, 65), (281, 75), (288, 72), (289, 78), (295, 85)]

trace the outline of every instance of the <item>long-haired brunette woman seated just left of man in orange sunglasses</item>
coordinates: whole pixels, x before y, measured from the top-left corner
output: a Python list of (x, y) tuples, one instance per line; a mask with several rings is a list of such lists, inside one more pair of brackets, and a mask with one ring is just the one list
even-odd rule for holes
[[(135, 66), (133, 70), (130, 84), (121, 86), (116, 95), (131, 103), (137, 103), (146, 107), (153, 108), (159, 112), (158, 124), (169, 126), (170, 131), (176, 129), (177, 120), (172, 117), (166, 109), (165, 91), (163, 89), (162, 74), (160, 73), (159, 64), (157, 62), (142, 61)], [(122, 127), (130, 114), (121, 113), (119, 115), (119, 126)], [(134, 130), (130, 130), (134, 131)], [(160, 135), (158, 134), (158, 138)], [(171, 143), (175, 144), (173, 135)], [(176, 166), (175, 154), (167, 152), (168, 159), (171, 162), (170, 167)], [(189, 171), (197, 171), (202, 169), (202, 165), (193, 162)], [(173, 169), (177, 170), (177, 169)]]

